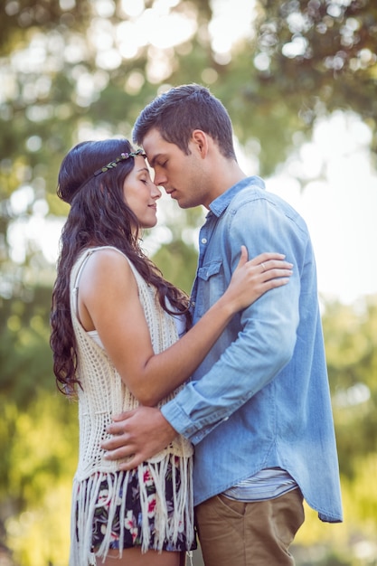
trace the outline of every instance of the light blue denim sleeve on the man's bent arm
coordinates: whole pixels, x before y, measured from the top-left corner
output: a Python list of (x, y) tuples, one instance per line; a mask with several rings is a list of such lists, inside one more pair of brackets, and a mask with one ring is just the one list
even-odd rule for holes
[[(219, 280), (197, 279), (197, 297), (205, 296), (211, 286), (228, 286), (242, 244), (247, 246), (250, 258), (263, 251), (286, 254), (294, 264), (294, 274), (287, 285), (269, 290), (233, 317), (194, 373), (193, 381), (162, 408), (174, 429), (193, 444), (227, 420), (291, 360), (297, 341), (303, 273), (312, 278), (306, 285), (316, 290), (316, 266), (305, 222), (290, 208), (286, 210), (285, 203), (277, 204), (259, 193), (251, 191), (243, 200), (236, 199), (217, 222), (205, 258), (221, 258)], [(214, 302), (216, 294), (211, 296)], [(194, 320), (210, 306), (195, 312)]]

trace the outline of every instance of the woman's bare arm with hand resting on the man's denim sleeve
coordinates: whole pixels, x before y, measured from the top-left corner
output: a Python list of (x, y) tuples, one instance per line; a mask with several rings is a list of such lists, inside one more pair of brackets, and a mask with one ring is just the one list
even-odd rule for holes
[(98, 331), (137, 400), (154, 406), (190, 377), (236, 312), (287, 283), (292, 265), (283, 258), (264, 253), (247, 261), (242, 247), (239, 266), (224, 295), (180, 340), (155, 354), (127, 259), (115, 250), (99, 250), (90, 256), (80, 278), (80, 322), (87, 331)]

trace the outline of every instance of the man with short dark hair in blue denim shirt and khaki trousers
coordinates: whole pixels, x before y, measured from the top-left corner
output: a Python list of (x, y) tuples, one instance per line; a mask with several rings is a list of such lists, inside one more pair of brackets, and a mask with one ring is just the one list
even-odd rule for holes
[(237, 163), (220, 100), (183, 85), (153, 100), (134, 139), (182, 208), (208, 210), (193, 285), (193, 323), (227, 287), (240, 245), (294, 264), (289, 285), (234, 316), (193, 380), (161, 410), (141, 407), (111, 425), (109, 458), (135, 467), (177, 432), (193, 442), (194, 505), (206, 566), (285, 566), (304, 521), (342, 521), (338, 462), (316, 265), (306, 224)]

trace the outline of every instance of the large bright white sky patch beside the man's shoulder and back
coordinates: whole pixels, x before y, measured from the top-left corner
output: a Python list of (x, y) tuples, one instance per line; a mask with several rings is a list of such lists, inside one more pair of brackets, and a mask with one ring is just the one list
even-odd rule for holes
[[(269, 184), (306, 219), (319, 291), (344, 303), (377, 293), (377, 174), (369, 142), (370, 131), (359, 118), (336, 112), (317, 125), (300, 159), (288, 160)], [(303, 193), (295, 181), (297, 167), (309, 180)]]

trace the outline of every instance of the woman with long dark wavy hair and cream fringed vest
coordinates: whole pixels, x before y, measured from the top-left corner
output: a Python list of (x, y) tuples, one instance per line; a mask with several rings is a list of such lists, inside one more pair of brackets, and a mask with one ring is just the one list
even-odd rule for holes
[(77, 395), (80, 421), (70, 565), (98, 557), (106, 565), (178, 566), (196, 545), (191, 444), (177, 437), (121, 472), (100, 443), (113, 415), (171, 399), (231, 316), (285, 285), (291, 264), (276, 253), (247, 261), (241, 250), (230, 287), (189, 330), (188, 297), (140, 247), (161, 196), (143, 152), (126, 139), (75, 146), (61, 164), (58, 195), (71, 211), (52, 294), (53, 368), (59, 389)]

